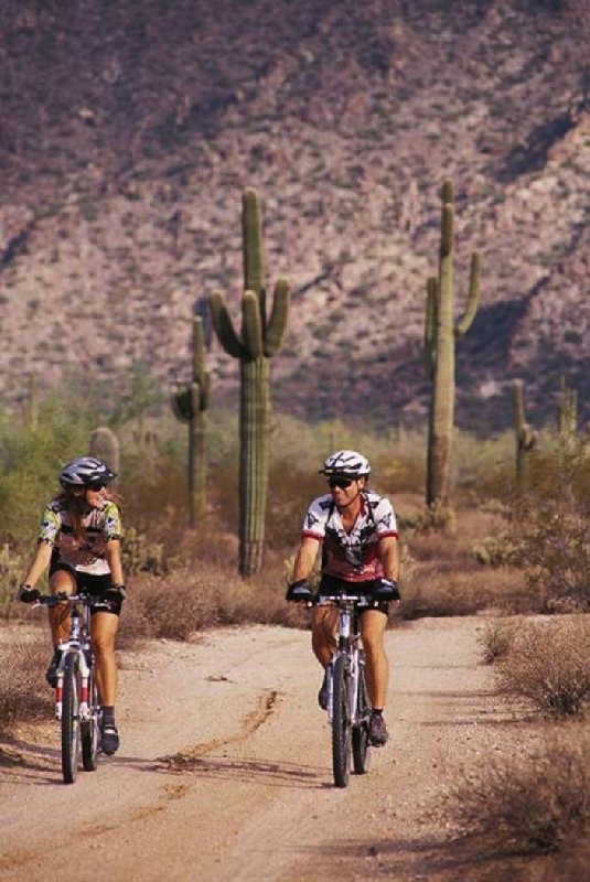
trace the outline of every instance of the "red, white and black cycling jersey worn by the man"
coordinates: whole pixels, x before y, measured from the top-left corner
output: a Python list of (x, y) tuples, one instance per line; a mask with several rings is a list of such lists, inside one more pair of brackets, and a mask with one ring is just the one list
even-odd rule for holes
[(397, 538), (396, 516), (389, 499), (365, 491), (354, 527), (346, 533), (328, 493), (313, 499), (308, 508), (303, 536), (322, 542), (322, 573), (345, 582), (367, 582), (383, 578), (377, 546), (379, 539)]

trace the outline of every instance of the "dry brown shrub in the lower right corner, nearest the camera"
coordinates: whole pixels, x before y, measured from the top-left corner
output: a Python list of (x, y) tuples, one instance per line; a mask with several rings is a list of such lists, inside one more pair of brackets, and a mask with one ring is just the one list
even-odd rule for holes
[(482, 837), (485, 850), (569, 848), (590, 830), (590, 741), (551, 740), (529, 755), (486, 756), (450, 789), (443, 813), (455, 835)]

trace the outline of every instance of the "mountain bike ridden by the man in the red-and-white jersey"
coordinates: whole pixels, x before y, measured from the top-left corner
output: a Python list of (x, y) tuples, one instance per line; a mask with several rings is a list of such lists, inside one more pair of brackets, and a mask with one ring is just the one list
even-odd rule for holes
[(364, 594), (321, 596), (317, 605), (339, 609), (337, 649), (326, 668), (328, 719), (332, 724), (332, 770), (336, 787), (346, 787), (352, 767), (357, 775), (368, 772), (371, 701), (361, 646), (358, 612), (374, 605)]

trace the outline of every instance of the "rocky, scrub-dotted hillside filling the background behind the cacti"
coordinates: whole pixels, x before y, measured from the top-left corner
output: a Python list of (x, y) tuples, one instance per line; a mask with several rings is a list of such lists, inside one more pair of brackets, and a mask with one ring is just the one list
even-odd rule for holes
[[(187, 320), (240, 295), (240, 194), (293, 289), (275, 402), (421, 422), (439, 190), (457, 193), (458, 420), (590, 416), (590, 118), (571, 19), (540, 0), (3, 4), (0, 392), (186, 376)], [(237, 368), (216, 342), (217, 395)]]

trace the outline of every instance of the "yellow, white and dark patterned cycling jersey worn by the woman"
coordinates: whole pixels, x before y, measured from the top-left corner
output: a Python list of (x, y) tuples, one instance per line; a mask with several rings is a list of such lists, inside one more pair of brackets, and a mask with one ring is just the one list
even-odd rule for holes
[(86, 538), (73, 536), (72, 515), (63, 497), (57, 496), (45, 508), (39, 542), (54, 546), (57, 562), (66, 563), (79, 572), (105, 576), (110, 572), (106, 560), (107, 542), (121, 537), (121, 518), (114, 502), (105, 501), (101, 508), (92, 508), (82, 519)]

